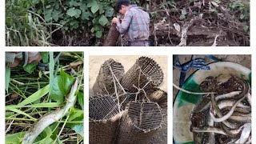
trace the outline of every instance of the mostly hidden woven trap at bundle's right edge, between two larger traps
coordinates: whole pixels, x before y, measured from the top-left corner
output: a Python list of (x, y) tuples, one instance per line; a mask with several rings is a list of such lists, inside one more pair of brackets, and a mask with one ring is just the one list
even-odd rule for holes
[(158, 105), (162, 109), (162, 114), (167, 114), (167, 93), (161, 89), (153, 88), (146, 91), (147, 97), (152, 102), (158, 102)]

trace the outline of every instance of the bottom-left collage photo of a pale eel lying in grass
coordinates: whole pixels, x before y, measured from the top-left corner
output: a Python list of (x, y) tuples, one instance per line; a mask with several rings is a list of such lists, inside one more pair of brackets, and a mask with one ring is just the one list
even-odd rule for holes
[(83, 52), (5, 55), (5, 143), (84, 143)]

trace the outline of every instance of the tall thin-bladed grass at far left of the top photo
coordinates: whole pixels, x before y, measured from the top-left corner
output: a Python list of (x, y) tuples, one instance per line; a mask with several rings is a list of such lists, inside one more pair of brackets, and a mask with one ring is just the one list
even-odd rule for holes
[(62, 25), (46, 22), (33, 2), (6, 0), (6, 46), (52, 46), (51, 35)]

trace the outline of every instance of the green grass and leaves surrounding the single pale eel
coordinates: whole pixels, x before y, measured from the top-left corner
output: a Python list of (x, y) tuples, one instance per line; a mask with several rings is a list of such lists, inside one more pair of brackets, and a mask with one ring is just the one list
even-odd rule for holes
[[(46, 54), (47, 55), (47, 54)], [(47, 126), (34, 143), (83, 143), (83, 53), (62, 52), (50, 71), (34, 70), (31, 74), (22, 67), (6, 70), (6, 143), (19, 144), (26, 131), (45, 114), (59, 110), (75, 78), (79, 78), (77, 98), (68, 114)]]

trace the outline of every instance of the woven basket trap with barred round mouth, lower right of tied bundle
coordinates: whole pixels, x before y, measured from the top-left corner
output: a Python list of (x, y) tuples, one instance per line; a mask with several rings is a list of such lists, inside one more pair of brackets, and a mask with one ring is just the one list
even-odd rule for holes
[(155, 102), (130, 102), (118, 132), (118, 144), (148, 143), (161, 127), (161, 108)]

